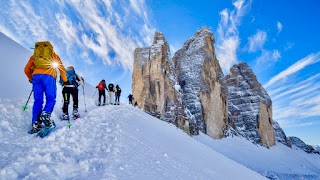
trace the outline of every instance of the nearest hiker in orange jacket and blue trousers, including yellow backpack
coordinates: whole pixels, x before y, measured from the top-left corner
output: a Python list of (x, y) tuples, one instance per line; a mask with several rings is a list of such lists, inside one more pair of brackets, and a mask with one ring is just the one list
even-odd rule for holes
[[(53, 128), (53, 120), (50, 119), (56, 103), (56, 78), (57, 71), (63, 82), (67, 82), (66, 69), (60, 57), (53, 51), (50, 42), (35, 43), (34, 54), (30, 57), (24, 72), (32, 83), (34, 92), (34, 104), (32, 108), (32, 128), (29, 134), (37, 133), (42, 128), (42, 122), (46, 128)], [(43, 94), (46, 104), (43, 108)]]

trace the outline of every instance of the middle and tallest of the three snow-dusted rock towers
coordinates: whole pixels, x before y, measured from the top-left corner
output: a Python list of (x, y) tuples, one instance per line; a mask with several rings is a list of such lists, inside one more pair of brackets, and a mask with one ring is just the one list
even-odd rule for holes
[(222, 138), (226, 130), (227, 88), (215, 56), (214, 37), (204, 27), (173, 57), (191, 131)]

